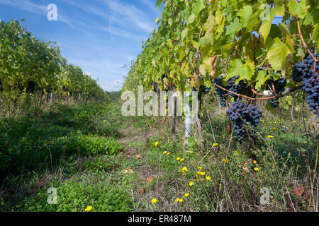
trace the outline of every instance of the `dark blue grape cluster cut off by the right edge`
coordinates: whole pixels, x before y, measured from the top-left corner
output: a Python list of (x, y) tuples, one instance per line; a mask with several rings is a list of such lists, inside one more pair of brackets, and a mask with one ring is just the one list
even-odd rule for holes
[[(313, 56), (318, 59), (318, 54), (313, 53)], [(293, 66), (292, 77), (295, 82), (303, 82), (302, 89), (306, 92), (309, 109), (319, 117), (319, 65), (315, 66), (315, 70), (313, 66), (313, 58), (309, 55)]]

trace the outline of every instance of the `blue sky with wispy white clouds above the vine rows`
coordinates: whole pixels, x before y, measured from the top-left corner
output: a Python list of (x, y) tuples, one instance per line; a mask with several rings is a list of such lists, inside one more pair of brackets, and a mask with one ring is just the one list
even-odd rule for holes
[[(99, 80), (104, 90), (121, 90), (129, 64), (150, 37), (160, 16), (156, 0), (0, 0), (0, 19), (21, 20), (35, 37), (57, 42), (69, 63)], [(57, 5), (57, 21), (47, 6)]]

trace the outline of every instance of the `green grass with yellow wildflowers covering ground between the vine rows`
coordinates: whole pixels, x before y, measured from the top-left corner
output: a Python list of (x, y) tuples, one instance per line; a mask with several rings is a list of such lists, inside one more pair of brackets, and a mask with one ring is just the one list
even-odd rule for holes
[[(30, 111), (2, 118), (0, 210), (315, 210), (318, 141), (310, 117), (307, 136), (302, 120), (274, 115), (259, 124), (255, 144), (238, 143), (225, 114), (210, 106), (203, 105), (211, 118), (205, 111), (203, 156), (196, 126), (184, 148), (181, 118), (172, 141), (169, 118), (162, 124), (162, 117), (123, 117), (118, 102), (53, 105), (38, 116)], [(57, 189), (57, 205), (47, 203), (50, 187)], [(293, 192), (300, 187), (302, 196)], [(262, 188), (269, 189), (269, 205), (260, 203)]]

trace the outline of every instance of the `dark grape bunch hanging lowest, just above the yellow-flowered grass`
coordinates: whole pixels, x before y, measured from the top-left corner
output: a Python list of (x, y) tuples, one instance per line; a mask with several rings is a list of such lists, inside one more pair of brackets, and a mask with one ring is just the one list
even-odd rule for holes
[(244, 125), (249, 123), (256, 128), (262, 117), (262, 112), (258, 109), (258, 105), (245, 104), (241, 100), (233, 102), (227, 114), (234, 123), (234, 131), (239, 141), (242, 141), (247, 136)]

